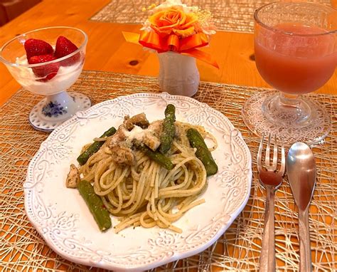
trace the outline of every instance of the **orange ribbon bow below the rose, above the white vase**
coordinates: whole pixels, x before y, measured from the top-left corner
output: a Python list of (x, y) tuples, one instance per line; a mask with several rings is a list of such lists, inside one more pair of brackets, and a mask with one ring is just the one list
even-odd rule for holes
[(196, 49), (208, 45), (208, 37), (205, 33), (196, 33), (186, 38), (178, 38), (175, 34), (162, 37), (156, 32), (142, 32), (140, 35), (124, 31), (122, 33), (125, 40), (130, 43), (140, 43), (142, 46), (154, 49), (158, 53), (167, 51), (182, 53), (219, 68), (218, 63), (209, 53)]

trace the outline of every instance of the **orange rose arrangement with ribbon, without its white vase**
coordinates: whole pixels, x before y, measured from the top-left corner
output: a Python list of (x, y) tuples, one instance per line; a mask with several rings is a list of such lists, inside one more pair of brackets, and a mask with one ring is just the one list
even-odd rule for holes
[(186, 6), (180, 0), (167, 0), (159, 6), (151, 5), (148, 10), (152, 15), (141, 28), (141, 34), (123, 33), (127, 41), (140, 43), (158, 53), (173, 51), (193, 56), (218, 68), (210, 54), (198, 50), (208, 46), (210, 35), (215, 34), (210, 11)]

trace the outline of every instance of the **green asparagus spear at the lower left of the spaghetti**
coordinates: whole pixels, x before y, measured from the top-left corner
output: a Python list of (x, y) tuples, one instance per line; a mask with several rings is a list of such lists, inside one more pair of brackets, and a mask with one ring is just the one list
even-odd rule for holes
[(109, 211), (105, 208), (102, 199), (95, 194), (95, 190), (90, 182), (87, 182), (86, 180), (80, 181), (78, 184), (78, 191), (85, 200), (92, 216), (94, 216), (100, 231), (109, 229), (112, 225)]

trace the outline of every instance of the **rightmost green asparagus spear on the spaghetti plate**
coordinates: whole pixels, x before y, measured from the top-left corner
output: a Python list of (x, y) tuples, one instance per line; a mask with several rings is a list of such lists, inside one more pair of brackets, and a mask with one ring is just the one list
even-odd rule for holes
[(190, 128), (187, 130), (187, 137), (190, 141), (191, 147), (196, 147), (196, 157), (203, 162), (205, 166), (207, 176), (211, 176), (218, 172), (218, 165), (215, 163), (210, 151), (208, 150), (203, 137), (200, 135), (198, 130)]

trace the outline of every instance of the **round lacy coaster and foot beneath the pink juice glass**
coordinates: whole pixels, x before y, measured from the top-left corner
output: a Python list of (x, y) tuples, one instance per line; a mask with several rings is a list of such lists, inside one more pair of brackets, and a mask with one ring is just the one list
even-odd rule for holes
[[(287, 144), (306, 142), (307, 145), (314, 145), (322, 142), (331, 130), (331, 119), (323, 105), (305, 97), (302, 99), (310, 110), (309, 115), (294, 114), (294, 109), (287, 108), (267, 117), (265, 107), (273, 103), (272, 97), (276, 99), (278, 94), (277, 90), (267, 90), (252, 95), (245, 102), (242, 118), (247, 127), (256, 135), (276, 135), (277, 140)], [(277, 122), (277, 118), (282, 121)]]

